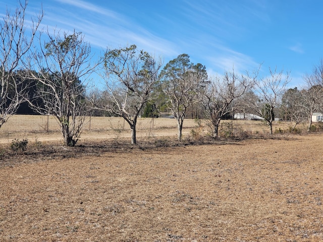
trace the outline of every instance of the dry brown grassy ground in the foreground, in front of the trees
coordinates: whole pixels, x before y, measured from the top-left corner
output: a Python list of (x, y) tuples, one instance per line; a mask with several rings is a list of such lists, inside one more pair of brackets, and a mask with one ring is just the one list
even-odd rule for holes
[(322, 135), (275, 137), (2, 149), (0, 241), (323, 241)]

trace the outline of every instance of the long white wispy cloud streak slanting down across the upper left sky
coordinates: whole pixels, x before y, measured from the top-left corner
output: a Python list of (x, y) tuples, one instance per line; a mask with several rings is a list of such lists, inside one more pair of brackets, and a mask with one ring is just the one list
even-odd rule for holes
[[(73, 29), (81, 31), (91, 45), (100, 49), (136, 44), (138, 48), (156, 55), (174, 55), (176, 53), (176, 46), (171, 41), (152, 34), (128, 16), (85, 1), (55, 1), (85, 10), (84, 14), (80, 16), (79, 12), (73, 8), (65, 8), (64, 10), (55, 10), (54, 8), (45, 15), (44, 25), (51, 28), (59, 25), (63, 31), (72, 31)], [(51, 23), (56, 23), (56, 26)]]

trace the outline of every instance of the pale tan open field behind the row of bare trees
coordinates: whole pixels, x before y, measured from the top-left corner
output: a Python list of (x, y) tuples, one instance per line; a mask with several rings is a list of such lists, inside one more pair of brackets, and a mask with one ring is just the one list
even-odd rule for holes
[[(269, 129), (261, 121), (252, 120), (224, 120), (222, 124), (232, 124), (231, 129), (239, 129), (248, 133), (268, 134)], [(207, 134), (209, 129), (207, 121), (201, 120), (203, 134)], [(197, 123), (194, 119), (185, 119), (183, 135), (190, 135), (192, 128)], [(292, 126), (289, 122), (275, 122), (273, 129), (287, 130)], [(299, 125), (298, 127), (306, 125)], [(220, 132), (221, 132), (220, 127)], [(130, 128), (122, 117), (88, 117), (80, 142), (86, 143), (92, 140), (119, 139), (129, 137)], [(174, 118), (138, 118), (137, 137), (138, 140), (146, 137), (176, 136), (177, 126)], [(46, 115), (14, 115), (8, 122), (0, 128), (0, 143), (10, 143), (14, 139), (28, 139), (29, 141), (54, 141), (63, 140), (60, 127), (53, 116)]]

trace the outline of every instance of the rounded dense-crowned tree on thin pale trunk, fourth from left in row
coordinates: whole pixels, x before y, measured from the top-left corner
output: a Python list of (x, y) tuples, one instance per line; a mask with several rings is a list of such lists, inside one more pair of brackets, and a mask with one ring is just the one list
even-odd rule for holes
[(203, 100), (207, 83), (205, 66), (194, 65), (188, 54), (181, 54), (164, 67), (160, 77), (166, 105), (176, 118), (178, 140), (181, 141), (188, 107)]

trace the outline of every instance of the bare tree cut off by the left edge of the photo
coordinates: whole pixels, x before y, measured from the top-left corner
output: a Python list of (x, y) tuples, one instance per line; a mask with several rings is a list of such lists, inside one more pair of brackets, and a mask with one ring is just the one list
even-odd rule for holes
[[(12, 13), (7, 9), (0, 22), (0, 127), (17, 112), (28, 92), (22, 69), (43, 17), (42, 11), (31, 21), (26, 19), (28, 1), (18, 2)], [(27, 29), (28, 28), (28, 29)]]

